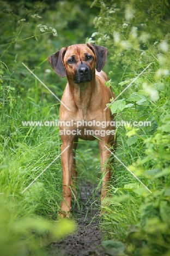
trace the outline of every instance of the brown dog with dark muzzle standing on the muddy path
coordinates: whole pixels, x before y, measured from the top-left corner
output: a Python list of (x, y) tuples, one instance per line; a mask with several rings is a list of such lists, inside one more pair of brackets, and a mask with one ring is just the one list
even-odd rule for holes
[[(114, 97), (105, 82), (107, 75), (101, 71), (106, 62), (107, 48), (92, 44), (75, 44), (62, 48), (48, 57), (48, 61), (60, 77), (67, 77), (62, 103), (59, 110), (59, 133), (62, 139), (62, 193), (61, 217), (69, 217), (71, 209), (71, 177), (76, 179), (77, 171), (73, 149), (78, 138), (98, 138), (100, 164), (103, 173), (101, 200), (106, 196), (110, 168), (104, 167), (110, 152), (104, 147), (113, 146), (114, 127), (110, 109), (106, 104)], [(69, 110), (68, 110), (69, 109)]]

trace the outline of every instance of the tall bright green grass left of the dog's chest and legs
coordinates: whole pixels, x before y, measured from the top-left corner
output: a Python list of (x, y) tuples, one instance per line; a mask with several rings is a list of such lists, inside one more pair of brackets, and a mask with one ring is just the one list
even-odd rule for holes
[[(30, 85), (36, 88), (32, 80)], [(5, 238), (1, 237), (0, 247), (3, 255), (23, 255), (26, 251), (45, 255), (41, 247), (75, 229), (73, 223), (53, 222), (57, 220), (61, 200), (60, 159), (50, 165), (60, 153), (58, 127), (22, 126), (22, 121), (57, 119), (58, 103), (45, 104), (38, 94), (34, 98), (31, 95), (28, 92), (26, 100), (13, 91), (11, 97), (16, 102), (13, 107), (5, 102), (1, 112), (0, 222)]]

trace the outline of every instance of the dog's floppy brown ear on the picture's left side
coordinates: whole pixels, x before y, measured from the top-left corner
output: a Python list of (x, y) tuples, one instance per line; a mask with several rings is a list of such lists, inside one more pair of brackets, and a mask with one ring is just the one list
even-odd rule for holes
[(64, 67), (64, 54), (66, 51), (66, 47), (60, 49), (57, 51), (57, 53), (52, 54), (50, 57), (48, 57), (48, 61), (51, 64), (51, 67), (56, 74), (58, 74), (60, 77), (65, 77), (66, 70)]

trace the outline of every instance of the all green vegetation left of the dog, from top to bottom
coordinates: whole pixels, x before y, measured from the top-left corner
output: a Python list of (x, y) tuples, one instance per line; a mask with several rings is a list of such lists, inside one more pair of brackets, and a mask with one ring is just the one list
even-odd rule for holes
[(53, 221), (62, 199), (58, 127), (22, 123), (57, 120), (59, 102), (22, 62), (60, 98), (66, 79), (52, 72), (47, 57), (84, 43), (98, 8), (89, 9), (90, 1), (48, 2), (0, 1), (2, 255), (45, 255), (40, 247), (75, 229)]

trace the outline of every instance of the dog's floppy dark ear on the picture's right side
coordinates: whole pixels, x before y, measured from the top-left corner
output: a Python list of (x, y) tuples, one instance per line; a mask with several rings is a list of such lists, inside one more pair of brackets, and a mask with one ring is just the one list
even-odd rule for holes
[(93, 51), (96, 56), (96, 71), (100, 72), (105, 66), (107, 48), (104, 46), (99, 46), (95, 44), (87, 44), (87, 46)]

